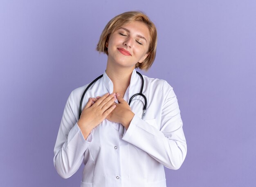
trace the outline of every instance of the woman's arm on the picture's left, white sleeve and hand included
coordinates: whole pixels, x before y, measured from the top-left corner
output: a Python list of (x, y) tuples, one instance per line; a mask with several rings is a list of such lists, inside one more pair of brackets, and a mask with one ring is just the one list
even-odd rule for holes
[(61, 177), (69, 178), (79, 169), (86, 156), (84, 153), (92, 141), (90, 132), (114, 110), (115, 106), (110, 107), (115, 101), (114, 97), (114, 94), (107, 93), (93, 106), (90, 98), (79, 121), (76, 122), (73, 92), (71, 92), (54, 147), (54, 166)]

